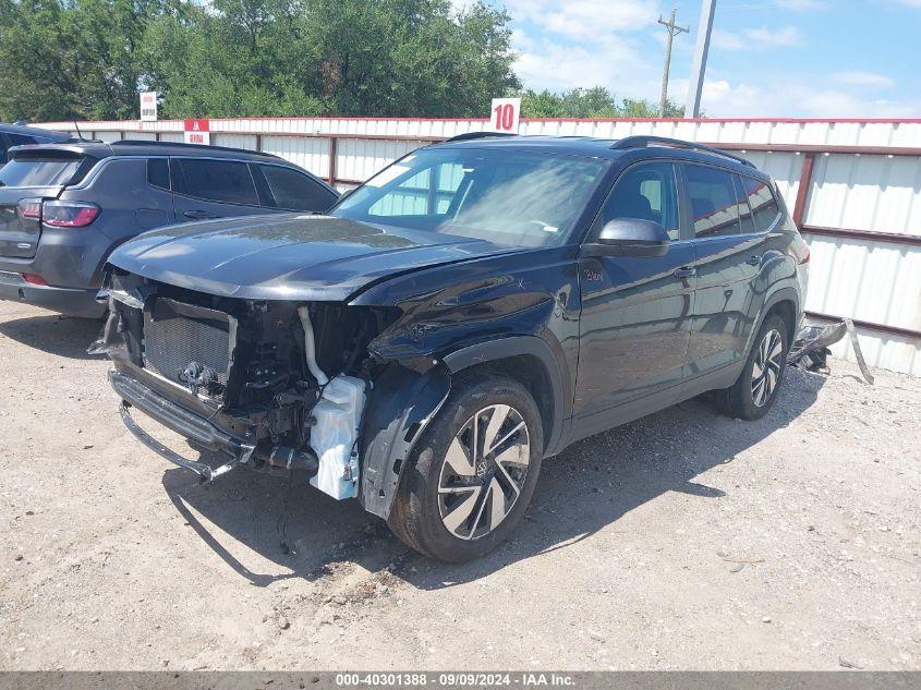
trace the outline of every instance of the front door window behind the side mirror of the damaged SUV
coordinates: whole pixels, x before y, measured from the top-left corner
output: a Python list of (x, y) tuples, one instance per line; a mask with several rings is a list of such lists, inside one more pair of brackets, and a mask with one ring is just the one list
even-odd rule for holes
[(675, 167), (670, 162), (652, 162), (623, 173), (602, 209), (602, 227), (616, 218), (655, 221), (665, 228), (669, 239), (678, 240)]

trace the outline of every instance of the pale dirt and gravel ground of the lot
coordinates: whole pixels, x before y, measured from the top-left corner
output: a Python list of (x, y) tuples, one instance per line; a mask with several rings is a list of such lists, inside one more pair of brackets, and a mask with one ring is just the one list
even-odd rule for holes
[(307, 486), (286, 555), (284, 480), (142, 447), (98, 329), (0, 302), (0, 668), (921, 668), (919, 379), (832, 361), (755, 423), (695, 400), (580, 443), (457, 567)]

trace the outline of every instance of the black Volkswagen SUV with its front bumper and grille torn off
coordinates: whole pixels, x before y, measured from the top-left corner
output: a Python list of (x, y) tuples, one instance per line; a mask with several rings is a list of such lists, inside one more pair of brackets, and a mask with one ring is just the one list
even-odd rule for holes
[[(328, 216), (123, 245), (96, 349), (125, 424), (172, 462), (304, 470), (461, 561), (511, 532), (542, 460), (578, 439), (710, 390), (765, 414), (808, 258), (774, 183), (730, 154), (465, 135)], [(166, 449), (132, 407), (225, 461)]]

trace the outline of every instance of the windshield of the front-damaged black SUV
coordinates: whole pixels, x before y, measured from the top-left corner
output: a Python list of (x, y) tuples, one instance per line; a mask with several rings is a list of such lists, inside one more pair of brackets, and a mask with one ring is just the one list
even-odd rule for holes
[(508, 246), (566, 242), (606, 164), (490, 149), (432, 149), (385, 168), (331, 213)]

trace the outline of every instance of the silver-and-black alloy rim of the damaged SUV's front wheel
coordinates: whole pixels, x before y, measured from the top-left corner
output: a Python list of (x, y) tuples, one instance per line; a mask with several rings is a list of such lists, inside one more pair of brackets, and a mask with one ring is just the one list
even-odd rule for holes
[(528, 424), (507, 404), (471, 416), (451, 439), (438, 477), (445, 528), (462, 540), (492, 533), (524, 486), (531, 458)]

